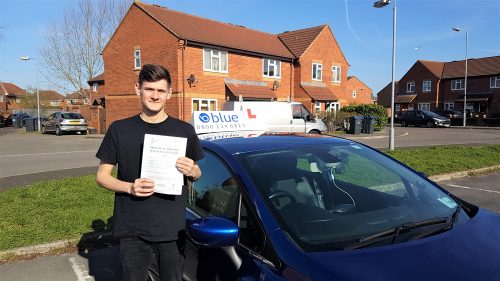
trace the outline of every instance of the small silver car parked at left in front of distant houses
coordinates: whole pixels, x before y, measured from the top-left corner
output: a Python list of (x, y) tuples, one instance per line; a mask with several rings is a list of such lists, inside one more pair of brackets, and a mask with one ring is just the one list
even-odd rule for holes
[(87, 121), (80, 113), (56, 112), (42, 122), (42, 134), (47, 132), (55, 132), (58, 136), (70, 132), (86, 135)]

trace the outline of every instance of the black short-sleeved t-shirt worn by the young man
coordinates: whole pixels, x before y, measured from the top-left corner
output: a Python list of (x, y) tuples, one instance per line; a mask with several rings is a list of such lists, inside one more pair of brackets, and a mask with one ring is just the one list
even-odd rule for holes
[[(119, 180), (134, 182), (141, 175), (145, 134), (187, 138), (186, 157), (194, 161), (203, 158), (193, 126), (171, 116), (161, 123), (151, 124), (139, 115), (113, 122), (96, 157), (108, 164), (118, 164)], [(115, 193), (114, 235), (140, 237), (148, 241), (177, 240), (186, 226), (187, 193), (186, 185), (182, 188), (182, 195), (154, 193), (150, 197), (139, 198), (127, 193)]]

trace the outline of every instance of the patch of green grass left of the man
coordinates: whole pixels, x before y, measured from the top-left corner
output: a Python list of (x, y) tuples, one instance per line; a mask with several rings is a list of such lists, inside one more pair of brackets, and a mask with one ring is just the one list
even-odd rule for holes
[(95, 176), (49, 180), (0, 192), (0, 251), (104, 230), (114, 194)]

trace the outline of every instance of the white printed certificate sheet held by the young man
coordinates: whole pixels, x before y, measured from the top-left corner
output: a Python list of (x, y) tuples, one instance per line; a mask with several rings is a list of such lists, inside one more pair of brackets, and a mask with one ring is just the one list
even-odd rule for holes
[(181, 195), (184, 177), (175, 162), (186, 155), (186, 145), (186, 138), (144, 135), (141, 178), (153, 180), (156, 193)]

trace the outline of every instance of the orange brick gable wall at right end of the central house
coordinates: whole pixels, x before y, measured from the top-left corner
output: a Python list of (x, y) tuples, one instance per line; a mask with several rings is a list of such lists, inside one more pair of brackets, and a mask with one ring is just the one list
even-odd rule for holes
[[(312, 64), (321, 63), (323, 67), (322, 81), (312, 80)], [(300, 88), (300, 82), (323, 83), (328, 87), (339, 99), (340, 105), (347, 105), (346, 99), (346, 81), (349, 65), (342, 54), (342, 50), (338, 45), (331, 30), (327, 27), (321, 31), (314, 42), (299, 58), (300, 66), (295, 69), (295, 75), (298, 75), (299, 80), (295, 80), (295, 91), (297, 92), (295, 100), (304, 103), (304, 105), (313, 110), (313, 105), (309, 96)], [(332, 66), (341, 67), (340, 83), (332, 82)], [(308, 100), (308, 101), (306, 101)], [(307, 104), (308, 103), (308, 104)]]

